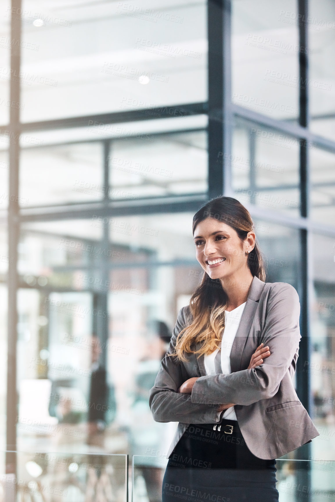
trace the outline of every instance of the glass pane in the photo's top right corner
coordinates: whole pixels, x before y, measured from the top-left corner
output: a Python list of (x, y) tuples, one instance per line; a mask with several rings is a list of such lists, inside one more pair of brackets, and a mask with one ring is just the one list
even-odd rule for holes
[(309, 0), (308, 40), (310, 129), (335, 140), (335, 5)]

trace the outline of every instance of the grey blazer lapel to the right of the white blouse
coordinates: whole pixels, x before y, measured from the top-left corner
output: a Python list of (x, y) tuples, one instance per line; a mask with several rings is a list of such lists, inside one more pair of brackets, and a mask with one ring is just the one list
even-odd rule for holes
[(254, 276), (250, 285), (247, 303), (241, 316), (240, 324), (232, 345), (230, 355), (232, 373), (239, 371), (241, 368), (242, 352), (247, 342), (247, 338), (250, 333), (250, 329), (257, 309), (258, 301), (261, 297), (264, 286), (265, 283)]

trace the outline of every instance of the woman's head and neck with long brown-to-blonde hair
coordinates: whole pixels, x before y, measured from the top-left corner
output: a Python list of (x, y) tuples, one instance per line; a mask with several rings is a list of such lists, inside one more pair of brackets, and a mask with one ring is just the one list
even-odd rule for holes
[[(229, 222), (229, 223), (227, 223)], [(192, 323), (176, 341), (177, 356), (194, 351), (210, 354), (225, 329), (224, 312), (246, 302), (254, 276), (265, 280), (262, 255), (247, 209), (232, 197), (220, 197), (193, 218), (196, 259), (204, 270), (190, 301)]]

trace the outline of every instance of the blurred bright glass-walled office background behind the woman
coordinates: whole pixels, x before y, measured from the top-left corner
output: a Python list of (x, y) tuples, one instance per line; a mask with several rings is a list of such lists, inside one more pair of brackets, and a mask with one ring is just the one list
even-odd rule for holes
[[(320, 436), (289, 458), (333, 461), (333, 0), (3, 0), (0, 27), (0, 471), (6, 450), (139, 455), (159, 498), (176, 424), (148, 393), (220, 194), (299, 293)], [(333, 496), (333, 472), (310, 482)]]

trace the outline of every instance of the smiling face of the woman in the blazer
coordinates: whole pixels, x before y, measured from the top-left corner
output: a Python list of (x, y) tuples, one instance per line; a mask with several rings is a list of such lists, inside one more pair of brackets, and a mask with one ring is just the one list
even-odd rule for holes
[(241, 241), (236, 230), (214, 218), (200, 221), (194, 231), (196, 259), (211, 279), (225, 279), (247, 266), (248, 251), (255, 246), (255, 234)]

